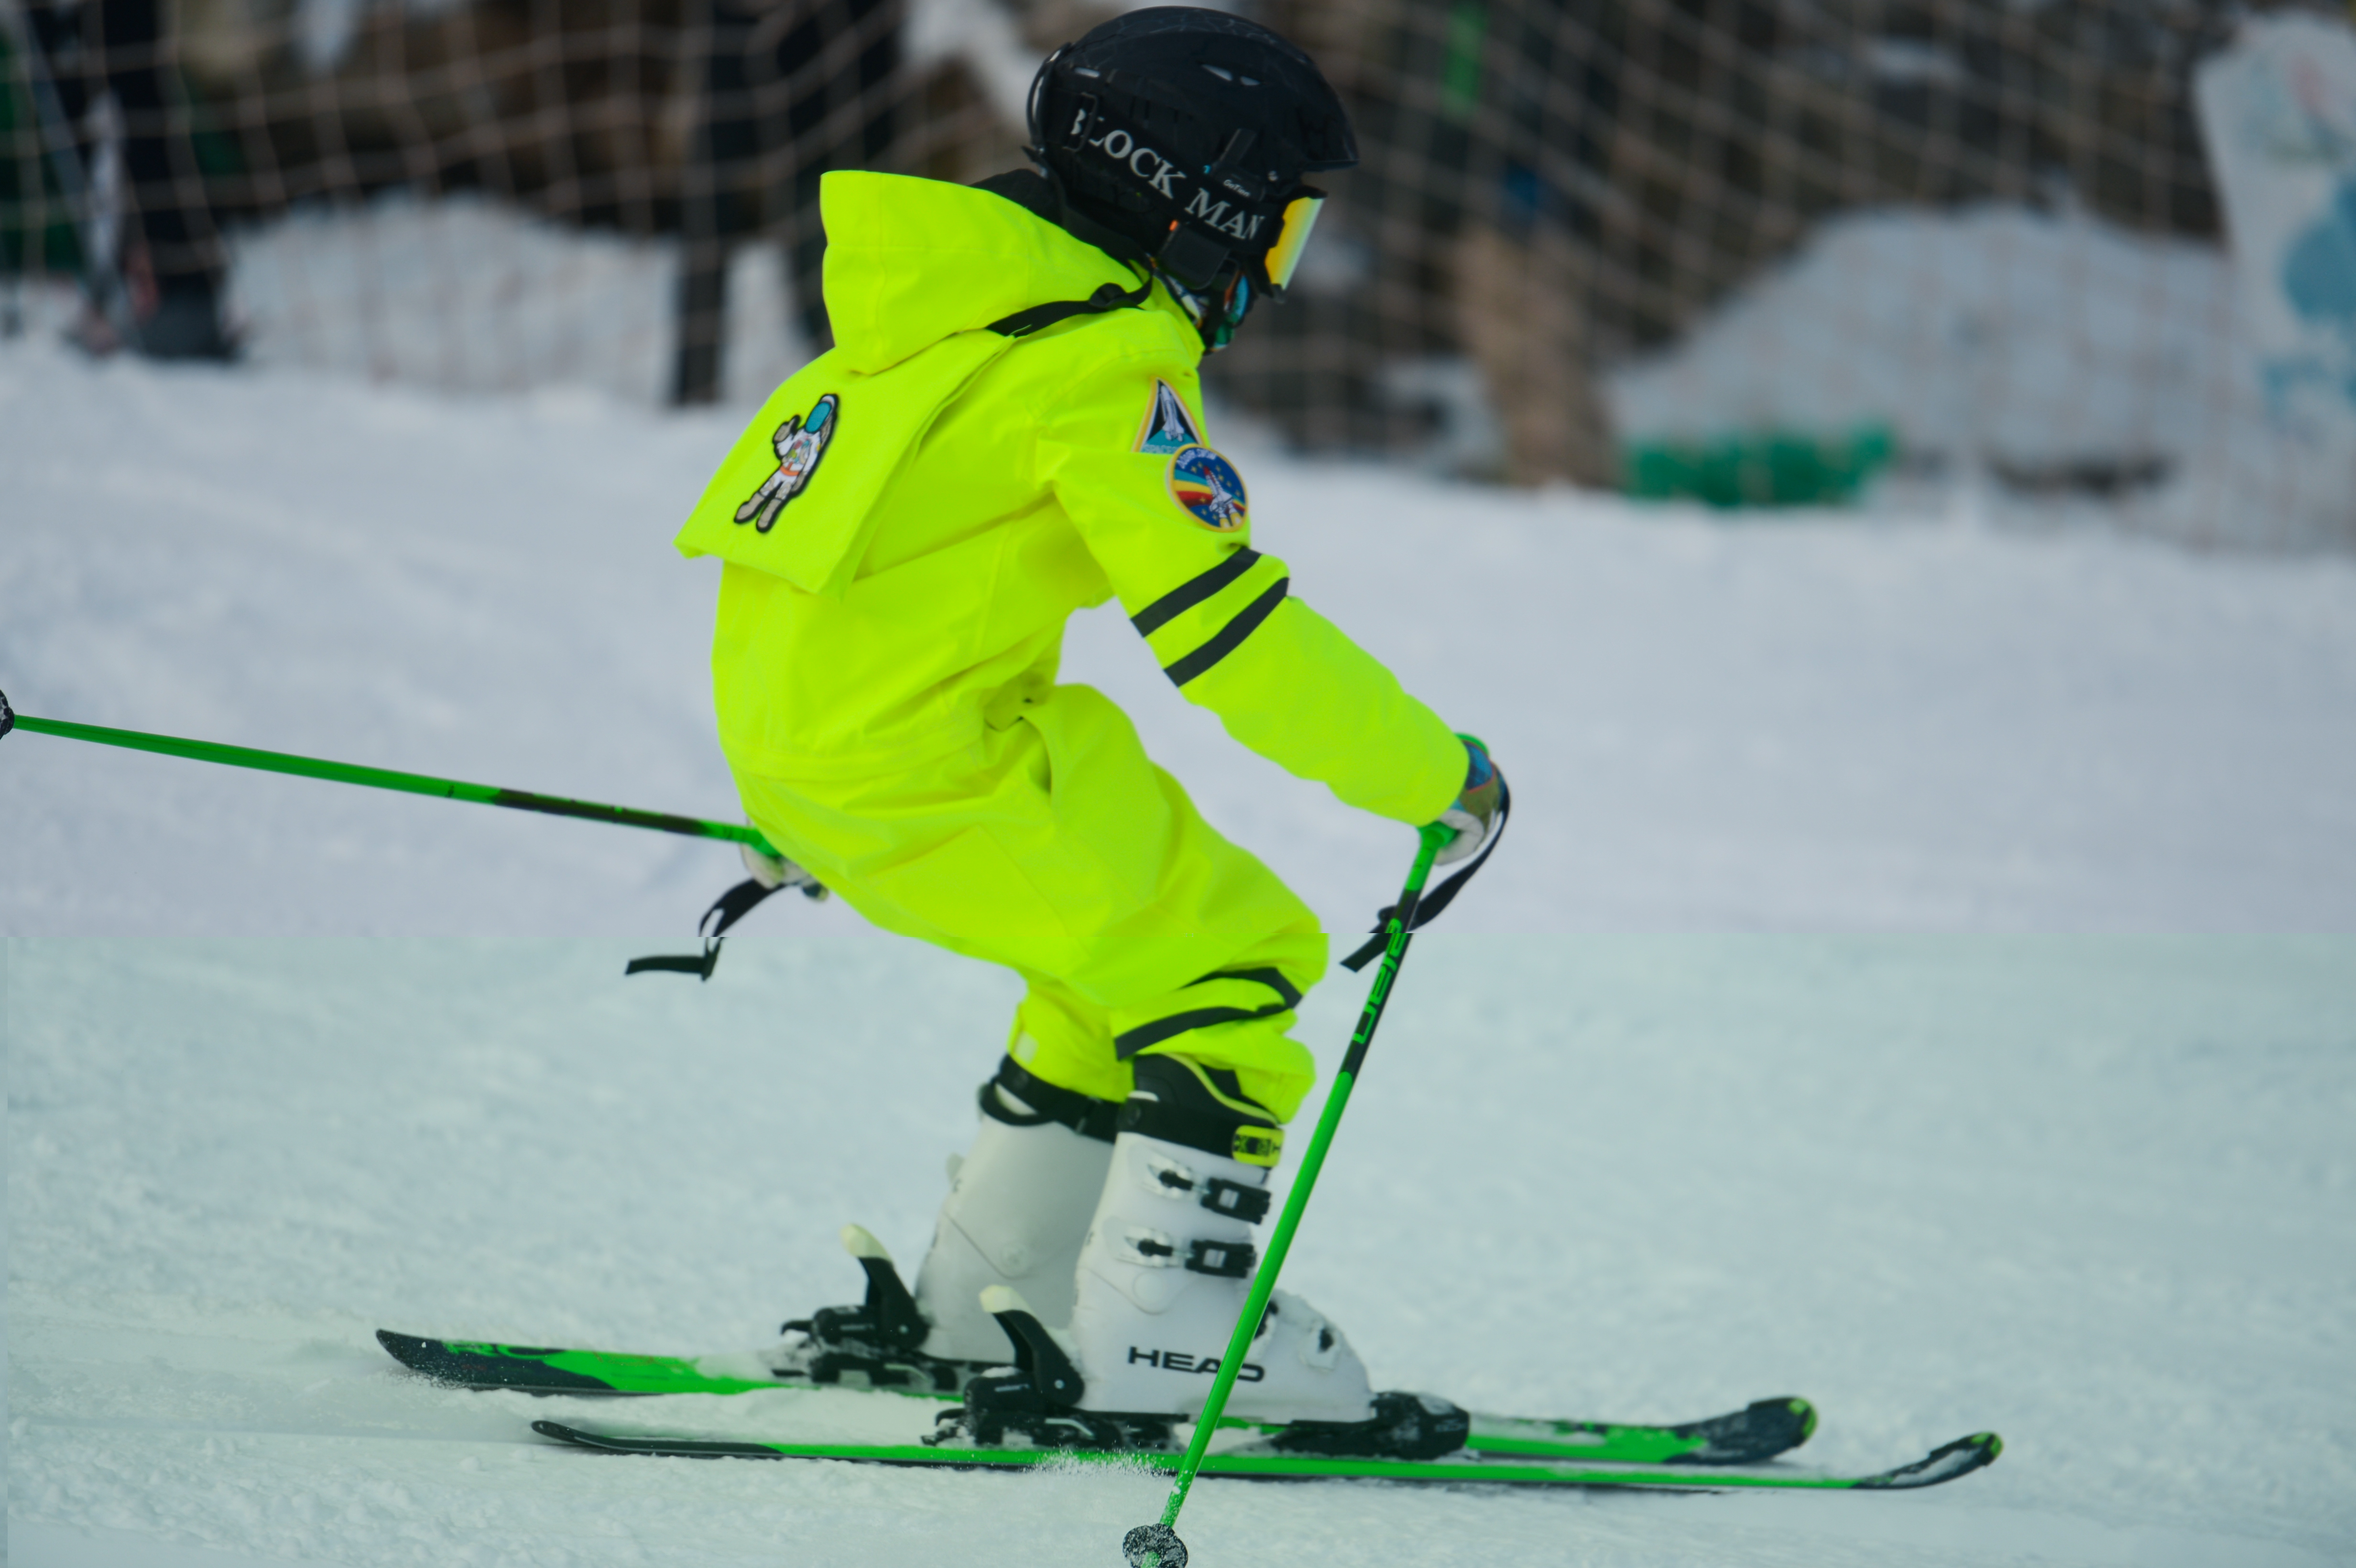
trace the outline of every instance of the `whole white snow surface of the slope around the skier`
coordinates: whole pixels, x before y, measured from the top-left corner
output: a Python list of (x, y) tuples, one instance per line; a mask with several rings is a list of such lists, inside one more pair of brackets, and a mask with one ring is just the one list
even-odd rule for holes
[[(712, 570), (667, 542), (742, 414), (5, 346), (0, 687), (730, 815)], [(1487, 1410), (1800, 1391), (1798, 1467), (2007, 1453), (1901, 1497), (1209, 1481), (1199, 1563), (2356, 1559), (2356, 565), (1237, 452), (1258, 542), (1520, 808), (1286, 1283)], [(1333, 930), (1388, 897), (1407, 836), (1227, 744), (1114, 614), (1067, 678)], [(0, 822), (16, 1563), (1114, 1563), (1157, 1511), (563, 1453), (525, 1422), (924, 1408), (459, 1396), (370, 1340), (737, 1349), (855, 1293), (846, 1220), (912, 1264), (1008, 977), (789, 902), (707, 986), (624, 982), (726, 848), (54, 737), (0, 742)], [(1357, 996), (1308, 1003), (1326, 1067)]]

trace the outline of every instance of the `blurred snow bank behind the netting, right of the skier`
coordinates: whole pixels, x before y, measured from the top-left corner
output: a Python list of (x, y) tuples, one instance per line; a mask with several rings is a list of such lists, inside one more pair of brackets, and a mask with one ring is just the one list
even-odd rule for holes
[(2123, 485), (2130, 527), (2356, 544), (2349, 454), (2276, 431), (2243, 337), (2210, 245), (1993, 205), (1847, 212), (1607, 391), (1635, 440), (1887, 426), (1915, 464), (2021, 492)]

